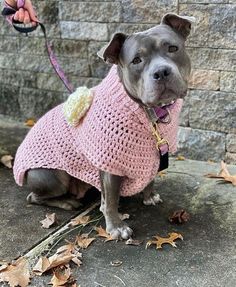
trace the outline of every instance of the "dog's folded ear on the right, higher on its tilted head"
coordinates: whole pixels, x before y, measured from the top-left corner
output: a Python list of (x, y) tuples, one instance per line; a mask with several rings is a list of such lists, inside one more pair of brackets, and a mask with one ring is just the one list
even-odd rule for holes
[(193, 23), (195, 23), (194, 17), (179, 16), (174, 13), (166, 14), (161, 20), (161, 24), (170, 26), (177, 33), (182, 35), (184, 39), (190, 34), (191, 25)]

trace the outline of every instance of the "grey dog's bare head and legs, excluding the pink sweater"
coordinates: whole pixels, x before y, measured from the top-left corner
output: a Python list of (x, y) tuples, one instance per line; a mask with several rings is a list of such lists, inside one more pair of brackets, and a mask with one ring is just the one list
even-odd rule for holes
[[(155, 107), (184, 98), (190, 74), (190, 59), (185, 41), (190, 33), (192, 17), (166, 14), (161, 24), (147, 31), (125, 35), (115, 34), (98, 55), (115, 64), (127, 94), (141, 106)], [(119, 189), (122, 177), (100, 171), (102, 200), (100, 210), (106, 220), (106, 230), (114, 238), (127, 239), (132, 229), (118, 213)], [(79, 184), (79, 181), (75, 184)], [(152, 182), (145, 188), (144, 201), (155, 204)], [(27, 173), (27, 185), (32, 190), (28, 201), (71, 209), (72, 199), (58, 196), (68, 193), (71, 177), (65, 171), (33, 169)]]

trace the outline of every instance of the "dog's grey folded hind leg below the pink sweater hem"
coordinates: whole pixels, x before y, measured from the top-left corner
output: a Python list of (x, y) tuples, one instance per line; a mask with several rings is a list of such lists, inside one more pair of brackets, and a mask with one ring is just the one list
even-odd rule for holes
[(63, 198), (68, 193), (70, 175), (61, 170), (32, 169), (27, 172), (27, 187), (32, 191), (27, 201), (59, 207), (66, 210), (78, 208), (80, 203), (73, 198)]

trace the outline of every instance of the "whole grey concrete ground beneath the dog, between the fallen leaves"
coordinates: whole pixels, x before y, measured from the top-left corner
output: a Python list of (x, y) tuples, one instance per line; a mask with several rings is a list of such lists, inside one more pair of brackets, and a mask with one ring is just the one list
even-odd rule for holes
[[(217, 173), (219, 168), (219, 164), (172, 159), (166, 175), (156, 179), (155, 188), (163, 199), (162, 204), (149, 207), (142, 205), (140, 196), (123, 198), (120, 210), (130, 214), (127, 223), (133, 228), (135, 239), (144, 240), (143, 244), (129, 246), (124, 242), (104, 243), (97, 239), (82, 251), (82, 266), (72, 266), (78, 285), (234, 287), (236, 187), (203, 176)], [(235, 166), (229, 166), (229, 170), (236, 174)], [(0, 260), (27, 254), (33, 264), (48, 244), (58, 240), (58, 234), (65, 233), (70, 218), (88, 206), (87, 203), (76, 212), (29, 206), (25, 201), (27, 192), (15, 185), (11, 170), (0, 168), (0, 182)], [(178, 209), (190, 213), (187, 223), (176, 225), (168, 221), (169, 215)], [(47, 212), (56, 212), (59, 226), (49, 230), (40, 227), (39, 221)], [(97, 216), (98, 208), (91, 214)], [(100, 223), (104, 226), (103, 220)], [(92, 225), (88, 230), (91, 228)], [(164, 245), (162, 250), (154, 246), (145, 249), (153, 235), (167, 236), (173, 231), (184, 237), (184, 241), (176, 241), (177, 248)], [(76, 234), (78, 230), (67, 234), (66, 239), (73, 240)], [(64, 241), (59, 242), (52, 253), (62, 244)], [(114, 267), (111, 265), (114, 260), (122, 264)], [(32, 286), (48, 286), (50, 278), (51, 275), (35, 277)]]

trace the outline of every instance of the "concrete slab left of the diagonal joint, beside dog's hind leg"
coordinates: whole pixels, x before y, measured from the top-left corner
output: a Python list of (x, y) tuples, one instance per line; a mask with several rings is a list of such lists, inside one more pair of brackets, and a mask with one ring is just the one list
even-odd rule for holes
[(22, 255), (55, 231), (58, 226), (41, 228), (39, 221), (45, 218), (46, 213), (56, 212), (60, 224), (76, 214), (56, 208), (28, 205), (28, 192), (15, 184), (12, 170), (1, 167), (0, 182), (0, 259), (12, 260)]

